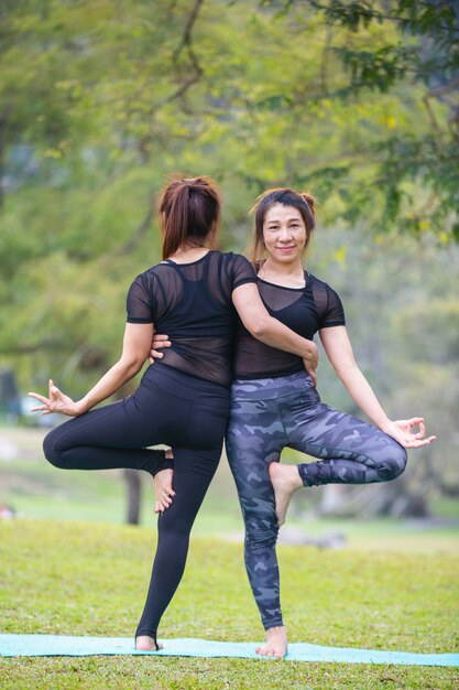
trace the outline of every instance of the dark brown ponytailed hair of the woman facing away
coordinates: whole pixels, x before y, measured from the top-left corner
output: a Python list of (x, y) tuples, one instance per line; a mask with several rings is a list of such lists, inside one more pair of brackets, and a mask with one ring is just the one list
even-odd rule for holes
[(220, 193), (210, 177), (173, 177), (159, 200), (163, 259), (183, 245), (204, 247), (217, 231)]

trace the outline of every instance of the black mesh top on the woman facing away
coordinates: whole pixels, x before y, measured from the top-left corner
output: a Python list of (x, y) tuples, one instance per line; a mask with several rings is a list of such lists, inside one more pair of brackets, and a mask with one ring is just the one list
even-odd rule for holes
[(168, 335), (162, 365), (229, 386), (237, 324), (231, 294), (248, 282), (255, 282), (255, 273), (238, 254), (209, 251), (192, 263), (167, 259), (135, 278), (128, 322), (154, 323)]

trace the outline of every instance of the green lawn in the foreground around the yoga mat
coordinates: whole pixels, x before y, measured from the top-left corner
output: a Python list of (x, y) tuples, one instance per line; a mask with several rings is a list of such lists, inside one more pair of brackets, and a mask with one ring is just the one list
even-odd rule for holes
[[(130, 636), (154, 531), (90, 522), (0, 522), (1, 629)], [(292, 642), (459, 649), (459, 557), (280, 547)], [(259, 640), (240, 545), (195, 537), (160, 638)], [(458, 688), (458, 669), (151, 657), (0, 660), (3, 689)]]

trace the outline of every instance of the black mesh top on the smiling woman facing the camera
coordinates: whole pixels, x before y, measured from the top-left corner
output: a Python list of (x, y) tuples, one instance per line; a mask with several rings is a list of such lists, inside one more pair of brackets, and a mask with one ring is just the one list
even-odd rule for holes
[[(258, 288), (271, 316), (303, 337), (313, 339), (320, 328), (346, 324), (338, 294), (305, 271), (304, 288), (283, 288), (258, 279)], [(239, 320), (233, 378), (269, 378), (304, 370), (303, 359), (256, 341)]]

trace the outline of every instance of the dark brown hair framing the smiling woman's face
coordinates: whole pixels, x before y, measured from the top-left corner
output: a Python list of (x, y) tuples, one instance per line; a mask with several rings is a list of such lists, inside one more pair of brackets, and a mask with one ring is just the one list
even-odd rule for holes
[(253, 239), (249, 249), (249, 258), (254, 263), (262, 258), (264, 252), (263, 241), (263, 224), (266, 217), (267, 211), (275, 204), (282, 204), (283, 206), (293, 206), (297, 208), (302, 214), (302, 218), (306, 226), (306, 244), (305, 248), (309, 244), (310, 234), (316, 226), (316, 201), (309, 192), (295, 192), (289, 187), (280, 187), (275, 190), (267, 190), (261, 194), (250, 213), (255, 214), (255, 227), (253, 228)]

